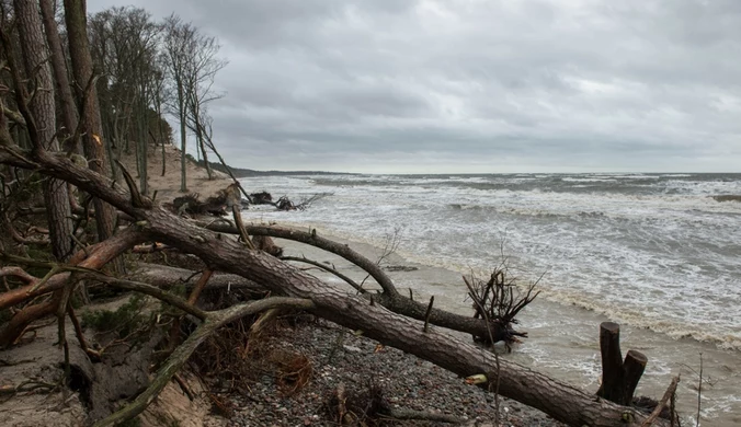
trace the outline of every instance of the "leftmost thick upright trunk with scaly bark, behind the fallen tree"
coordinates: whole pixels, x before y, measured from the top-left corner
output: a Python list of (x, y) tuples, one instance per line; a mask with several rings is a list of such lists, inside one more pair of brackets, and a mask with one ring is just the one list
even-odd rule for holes
[[(35, 82), (35, 96), (29, 105), (38, 129), (38, 142), (50, 151), (59, 151), (56, 138), (56, 106), (52, 72), (46, 62), (48, 53), (44, 41), (38, 4), (34, 1), (15, 0), (21, 45), (26, 74)], [(72, 221), (67, 183), (48, 178), (44, 182), (52, 252), (59, 261), (66, 261), (72, 252)]]

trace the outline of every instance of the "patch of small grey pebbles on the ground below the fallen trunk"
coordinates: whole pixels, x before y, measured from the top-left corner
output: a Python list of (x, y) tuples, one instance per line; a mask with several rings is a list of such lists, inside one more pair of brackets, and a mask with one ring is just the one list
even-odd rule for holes
[[(457, 417), (466, 426), (494, 426), (494, 394), (413, 355), (379, 347), (362, 336), (323, 321), (278, 327), (263, 338), (263, 348), (301, 354), (312, 367), (308, 384), (287, 394), (274, 372), (266, 370), (249, 383), (249, 391), (230, 396), (235, 405), (230, 426), (337, 426), (329, 409), (338, 385), (347, 395), (364, 392), (373, 382), (389, 406)], [(561, 427), (544, 413), (500, 397), (500, 426)], [(451, 426), (451, 424), (384, 418), (384, 426)], [(371, 422), (367, 425), (372, 426)]]

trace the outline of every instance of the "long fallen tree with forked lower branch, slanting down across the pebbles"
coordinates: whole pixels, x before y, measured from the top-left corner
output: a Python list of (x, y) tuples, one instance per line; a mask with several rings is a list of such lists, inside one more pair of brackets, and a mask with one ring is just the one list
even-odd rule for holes
[[(394, 305), (380, 298), (375, 299), (375, 295), (364, 298), (355, 295), (355, 292), (349, 293), (264, 252), (250, 249), (242, 242), (225, 239), (220, 233), (206, 230), (168, 214), (159, 206), (142, 204), (134, 185), (129, 185), (129, 196), (111, 188), (100, 175), (76, 166), (67, 159), (50, 157), (44, 152), (23, 151), (16, 147), (8, 147), (7, 143), (4, 145), (5, 148), (2, 148), (3, 143), (0, 141), (0, 163), (12, 164), (18, 168), (37, 168), (43, 173), (68, 180), (81, 188), (105, 198), (106, 201), (115, 205), (126, 215), (136, 218), (137, 223), (142, 224), (128, 228), (125, 233), (126, 240), (123, 240), (124, 236), (118, 236), (105, 246), (93, 249), (92, 253), (86, 258), (84, 267), (96, 268), (100, 266), (99, 259), (104, 258), (103, 254), (123, 251), (137, 242), (163, 242), (185, 253), (198, 256), (208, 265), (208, 269), (239, 275), (242, 278), (259, 282), (259, 286), (272, 295), (285, 295), (293, 298), (289, 300), (270, 298), (263, 300), (262, 304), (252, 301), (225, 310), (204, 312), (194, 308), (192, 303), (184, 299), (173, 296), (167, 297), (166, 292), (153, 286), (122, 284), (128, 289), (135, 289), (176, 304), (175, 307), (186, 310), (204, 322), (161, 365), (160, 370), (145, 392), (117, 413), (99, 422), (96, 426), (118, 424), (141, 413), (205, 337), (213, 334), (221, 325), (254, 313), (255, 307), (300, 307), (307, 309), (316, 315), (353, 331), (363, 331), (363, 334), (367, 337), (428, 359), (468, 378), (471, 383), (476, 383), (486, 390), (495, 390), (493, 384), (498, 383), (499, 393), (502, 395), (537, 407), (570, 426), (638, 426), (647, 418), (646, 414), (636, 408), (595, 399), (593, 393), (575, 389), (510, 360), (497, 360), (491, 353), (482, 351), (481, 348), (464, 343), (444, 331), (424, 328), (418, 313), (410, 310), (411, 305), (409, 304)], [(12, 153), (8, 150), (12, 150)], [(33, 158), (33, 161), (29, 157)], [(239, 232), (243, 238), (248, 236), (248, 229), (240, 228)], [(270, 227), (250, 227), (249, 232), (252, 234), (281, 234), (282, 236), (314, 242), (314, 244), (322, 244), (319, 243), (321, 238), (316, 235), (316, 232), (280, 229), (271, 231)], [(331, 244), (328, 243), (328, 245)], [(343, 244), (334, 243), (333, 246), (337, 252), (349, 251)], [(105, 247), (105, 250), (101, 250), (101, 247)], [(374, 268), (375, 263), (367, 258), (356, 257), (355, 261), (364, 268), (367, 267), (369, 273), (373, 269), (379, 269)], [(5, 274), (11, 274), (11, 272), (5, 270)], [(39, 284), (38, 278), (30, 277), (27, 274), (23, 275), (18, 270), (14, 270), (13, 274), (24, 277), (26, 285), (18, 290), (0, 293), (0, 308), (27, 301), (36, 296), (59, 289), (67, 282), (65, 275), (57, 275), (46, 282)], [(376, 272), (374, 278), (376, 277), (381, 281), (379, 285), (384, 292), (394, 295), (392, 299), (403, 298), (399, 297), (394, 284), (388, 281), (383, 273)], [(105, 280), (106, 284), (115, 282), (110, 278)], [(33, 307), (37, 305), (41, 304)], [(44, 313), (44, 305), (41, 305), (38, 312)], [(16, 314), (9, 322), (9, 326), (5, 326), (5, 332), (0, 333), (0, 343), (1, 339), (5, 339), (5, 342), (12, 339), (20, 328), (29, 321), (37, 319), (37, 315), (36, 311), (26, 311), (25, 316), (15, 321), (20, 316), (20, 313)], [(447, 316), (454, 318), (456, 315), (448, 313)], [(436, 316), (428, 314), (426, 318), (429, 318), (431, 324), (440, 325), (441, 322), (444, 322), (442, 314)], [(479, 324), (486, 323), (480, 319), (468, 319)], [(666, 426), (669, 423), (656, 420), (653, 425)]]

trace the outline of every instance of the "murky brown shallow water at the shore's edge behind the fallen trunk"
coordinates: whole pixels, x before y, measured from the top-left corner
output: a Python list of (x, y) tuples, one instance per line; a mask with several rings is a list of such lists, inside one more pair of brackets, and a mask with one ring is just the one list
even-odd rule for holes
[[(247, 221), (262, 221), (260, 214), (254, 218), (250, 218), (250, 211), (244, 211), (243, 217), (246, 217)], [(299, 229), (308, 227), (306, 222), (290, 219), (283, 221), (271, 218), (271, 222), (273, 221), (277, 221), (281, 226), (285, 227)], [(314, 229), (315, 226), (311, 224), (310, 228)], [(323, 226), (317, 226), (316, 228), (322, 236), (347, 244), (373, 261), (383, 252), (380, 247), (369, 243), (338, 238)], [(353, 278), (357, 278), (358, 280), (364, 277), (362, 273), (353, 272), (351, 265), (343, 265), (343, 263), (350, 264), (349, 262), (338, 261), (339, 257), (333, 254), (324, 253), (316, 247), (296, 242), (283, 240), (278, 242), (276, 240), (276, 244), (284, 246), (286, 254), (296, 256), (306, 255), (319, 262), (334, 262), (335, 266), (343, 274), (351, 277), (355, 274), (356, 276)], [(414, 290), (415, 298), (419, 296), (421, 299), (429, 299), (430, 296), (434, 295), (435, 303), (440, 300), (441, 305), (448, 310), (465, 315), (471, 314), (468, 304), (463, 302), (465, 286), (458, 273), (442, 267), (409, 262), (398, 253), (389, 257), (386, 264), (418, 268), (412, 272), (387, 270), (387, 274), (400, 291), (406, 292), (408, 288), (411, 288)], [(334, 278), (334, 276), (331, 276), (329, 281), (343, 286), (343, 282)], [(449, 295), (449, 290), (452, 289), (449, 287), (451, 284), (460, 287), (460, 297)], [(347, 289), (350, 288), (347, 287)], [(503, 355), (503, 357), (508, 357), (512, 361), (532, 369), (540, 370), (588, 392), (596, 392), (602, 372), (598, 325), (601, 322), (609, 321), (611, 319), (593, 310), (573, 304), (565, 304), (544, 297), (538, 297), (518, 318), (521, 324), (517, 328), (527, 332), (529, 337), (524, 339), (523, 344), (516, 345), (511, 354)], [(557, 321), (554, 322), (554, 319)], [(579, 335), (580, 337), (577, 338), (574, 335)], [(463, 334), (461, 337), (464, 339), (469, 338), (463, 336)], [(710, 383), (704, 385), (703, 419), (706, 423), (714, 423), (714, 426), (723, 427), (741, 423), (741, 417), (734, 416), (731, 409), (734, 405), (738, 405), (738, 400), (733, 397), (736, 389), (730, 383), (732, 380), (726, 382), (722, 380), (726, 377), (733, 378), (739, 376), (738, 369), (741, 369), (741, 367), (736, 367), (733, 362), (733, 360), (738, 360), (737, 351), (716, 348), (713, 343), (705, 343), (694, 338), (673, 338), (647, 328), (632, 327), (629, 324), (622, 325), (622, 346), (624, 347), (624, 351), (630, 348), (637, 349), (643, 351), (649, 358), (649, 365), (639, 383), (636, 395), (661, 396), (671, 377), (676, 373), (682, 376), (683, 381), (680, 382), (680, 389), (677, 389), (679, 407), (683, 420), (693, 424), (697, 407), (696, 386), (698, 366), (696, 365), (699, 363), (699, 353), (705, 355), (705, 380), (721, 379), (713, 384), (715, 386), (709, 386)], [(677, 354), (685, 355), (681, 358), (682, 361), (672, 361), (676, 358)]]

